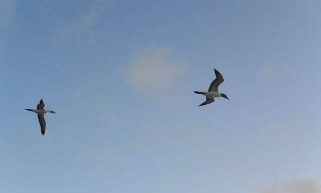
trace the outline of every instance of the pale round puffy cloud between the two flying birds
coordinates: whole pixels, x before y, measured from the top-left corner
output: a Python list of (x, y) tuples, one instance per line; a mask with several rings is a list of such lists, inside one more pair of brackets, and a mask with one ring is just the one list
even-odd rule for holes
[(187, 71), (187, 62), (168, 47), (147, 46), (132, 52), (125, 69), (130, 85), (144, 96), (168, 94)]

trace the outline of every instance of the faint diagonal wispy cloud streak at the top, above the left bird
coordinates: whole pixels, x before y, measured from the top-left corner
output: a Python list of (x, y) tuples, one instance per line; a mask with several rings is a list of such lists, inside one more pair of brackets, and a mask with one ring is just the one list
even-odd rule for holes
[(87, 12), (80, 16), (78, 20), (60, 24), (56, 33), (56, 39), (58, 41), (63, 41), (86, 38), (90, 41), (94, 41), (95, 36), (93, 27), (96, 24), (96, 20), (112, 5), (112, 0), (93, 1)]

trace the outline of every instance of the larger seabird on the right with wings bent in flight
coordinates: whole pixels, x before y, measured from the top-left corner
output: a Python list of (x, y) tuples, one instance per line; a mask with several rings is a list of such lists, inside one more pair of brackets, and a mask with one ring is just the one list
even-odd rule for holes
[(217, 71), (216, 69), (214, 69), (214, 71), (215, 71), (216, 79), (213, 80), (213, 82), (211, 83), (209, 91), (208, 92), (194, 91), (196, 94), (202, 94), (206, 96), (206, 101), (200, 104), (199, 106), (207, 105), (214, 102), (215, 101), (214, 97), (215, 98), (223, 97), (230, 100), (225, 94), (218, 92), (219, 86), (222, 82), (224, 82), (224, 79), (221, 73), (219, 73), (219, 71)]

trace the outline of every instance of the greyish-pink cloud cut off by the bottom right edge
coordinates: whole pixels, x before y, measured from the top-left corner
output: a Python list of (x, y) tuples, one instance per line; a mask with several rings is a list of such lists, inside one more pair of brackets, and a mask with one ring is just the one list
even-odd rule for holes
[(314, 180), (293, 180), (287, 183), (274, 183), (263, 193), (321, 193), (321, 184)]

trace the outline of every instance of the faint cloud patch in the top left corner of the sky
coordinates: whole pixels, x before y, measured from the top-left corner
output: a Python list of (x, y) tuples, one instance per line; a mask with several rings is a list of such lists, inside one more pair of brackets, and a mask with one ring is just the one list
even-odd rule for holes
[(14, 14), (14, 0), (0, 0), (0, 26), (10, 22)]

